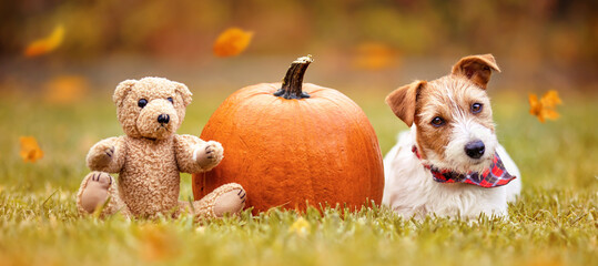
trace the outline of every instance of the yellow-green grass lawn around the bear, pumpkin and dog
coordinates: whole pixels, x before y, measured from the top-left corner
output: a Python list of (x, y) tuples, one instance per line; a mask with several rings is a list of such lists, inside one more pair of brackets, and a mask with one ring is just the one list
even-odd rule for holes
[[(386, 92), (347, 92), (376, 129), (383, 153), (405, 129), (382, 103)], [(179, 133), (199, 135), (225, 95), (202, 93)], [(526, 95), (493, 105), (499, 140), (518, 163), (520, 200), (508, 218), (405, 221), (385, 208), (310, 209), (305, 234), (294, 212), (193, 223), (81, 217), (74, 193), (97, 141), (121, 134), (110, 92), (77, 105), (24, 94), (0, 100), (0, 265), (598, 265), (598, 99), (564, 98), (561, 119), (540, 124)], [(33, 135), (45, 156), (19, 157)], [(191, 195), (183, 175), (181, 197)], [(251, 195), (250, 195), (251, 196)]]

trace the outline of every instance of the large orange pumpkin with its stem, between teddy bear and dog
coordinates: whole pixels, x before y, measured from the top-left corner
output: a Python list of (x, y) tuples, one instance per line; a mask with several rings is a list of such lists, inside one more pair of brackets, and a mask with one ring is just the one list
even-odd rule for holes
[(362, 109), (343, 93), (303, 84), (311, 57), (291, 64), (282, 83), (262, 83), (230, 95), (201, 134), (224, 147), (224, 160), (193, 175), (202, 198), (222, 184), (246, 190), (254, 213), (305, 209), (306, 202), (361, 207), (381, 203), (384, 171), (378, 141)]

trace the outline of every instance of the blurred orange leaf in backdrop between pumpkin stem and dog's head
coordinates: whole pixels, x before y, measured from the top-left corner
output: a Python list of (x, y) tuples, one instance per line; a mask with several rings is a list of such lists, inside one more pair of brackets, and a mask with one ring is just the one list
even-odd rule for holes
[(391, 68), (398, 61), (397, 51), (385, 43), (365, 42), (359, 44), (353, 58), (353, 66), (364, 70)]

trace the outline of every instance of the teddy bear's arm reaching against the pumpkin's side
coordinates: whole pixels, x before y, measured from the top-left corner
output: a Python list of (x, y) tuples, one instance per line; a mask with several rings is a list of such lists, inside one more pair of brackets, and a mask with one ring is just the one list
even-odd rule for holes
[(202, 141), (194, 135), (174, 135), (174, 151), (179, 171), (201, 173), (215, 167), (222, 161), (222, 145), (215, 141)]

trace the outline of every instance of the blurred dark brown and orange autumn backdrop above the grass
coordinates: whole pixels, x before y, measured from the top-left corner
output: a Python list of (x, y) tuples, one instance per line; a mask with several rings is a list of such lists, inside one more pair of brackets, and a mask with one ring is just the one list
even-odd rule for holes
[[(93, 90), (163, 75), (194, 91), (277, 81), (311, 53), (306, 80), (385, 90), (433, 79), (460, 57), (493, 53), (498, 88), (596, 91), (596, 1), (568, 0), (22, 0), (0, 3), (0, 82), (39, 90), (60, 74)], [(31, 41), (63, 25), (61, 45), (24, 58)], [(236, 58), (219, 59), (220, 32), (254, 32)], [(347, 74), (349, 73), (349, 74)]]

